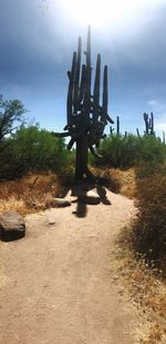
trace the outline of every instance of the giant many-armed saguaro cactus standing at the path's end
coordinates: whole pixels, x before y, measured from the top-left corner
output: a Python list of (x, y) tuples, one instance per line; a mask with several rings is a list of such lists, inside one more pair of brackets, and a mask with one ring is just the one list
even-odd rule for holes
[[(71, 71), (69, 76), (69, 89), (66, 101), (66, 119), (64, 127), (66, 132), (59, 136), (71, 136), (68, 148), (71, 149), (76, 144), (75, 178), (82, 179), (89, 176), (87, 153), (97, 155), (96, 148), (104, 137), (104, 128), (107, 122), (114, 124), (107, 115), (107, 66), (104, 66), (103, 97), (100, 105), (101, 92), (101, 55), (96, 58), (95, 78), (93, 95), (92, 88), (92, 66), (91, 66), (91, 27), (87, 31), (87, 45), (85, 51), (85, 63), (81, 67), (82, 39), (79, 38), (77, 52), (73, 52)], [(58, 135), (58, 134), (56, 134)]]

